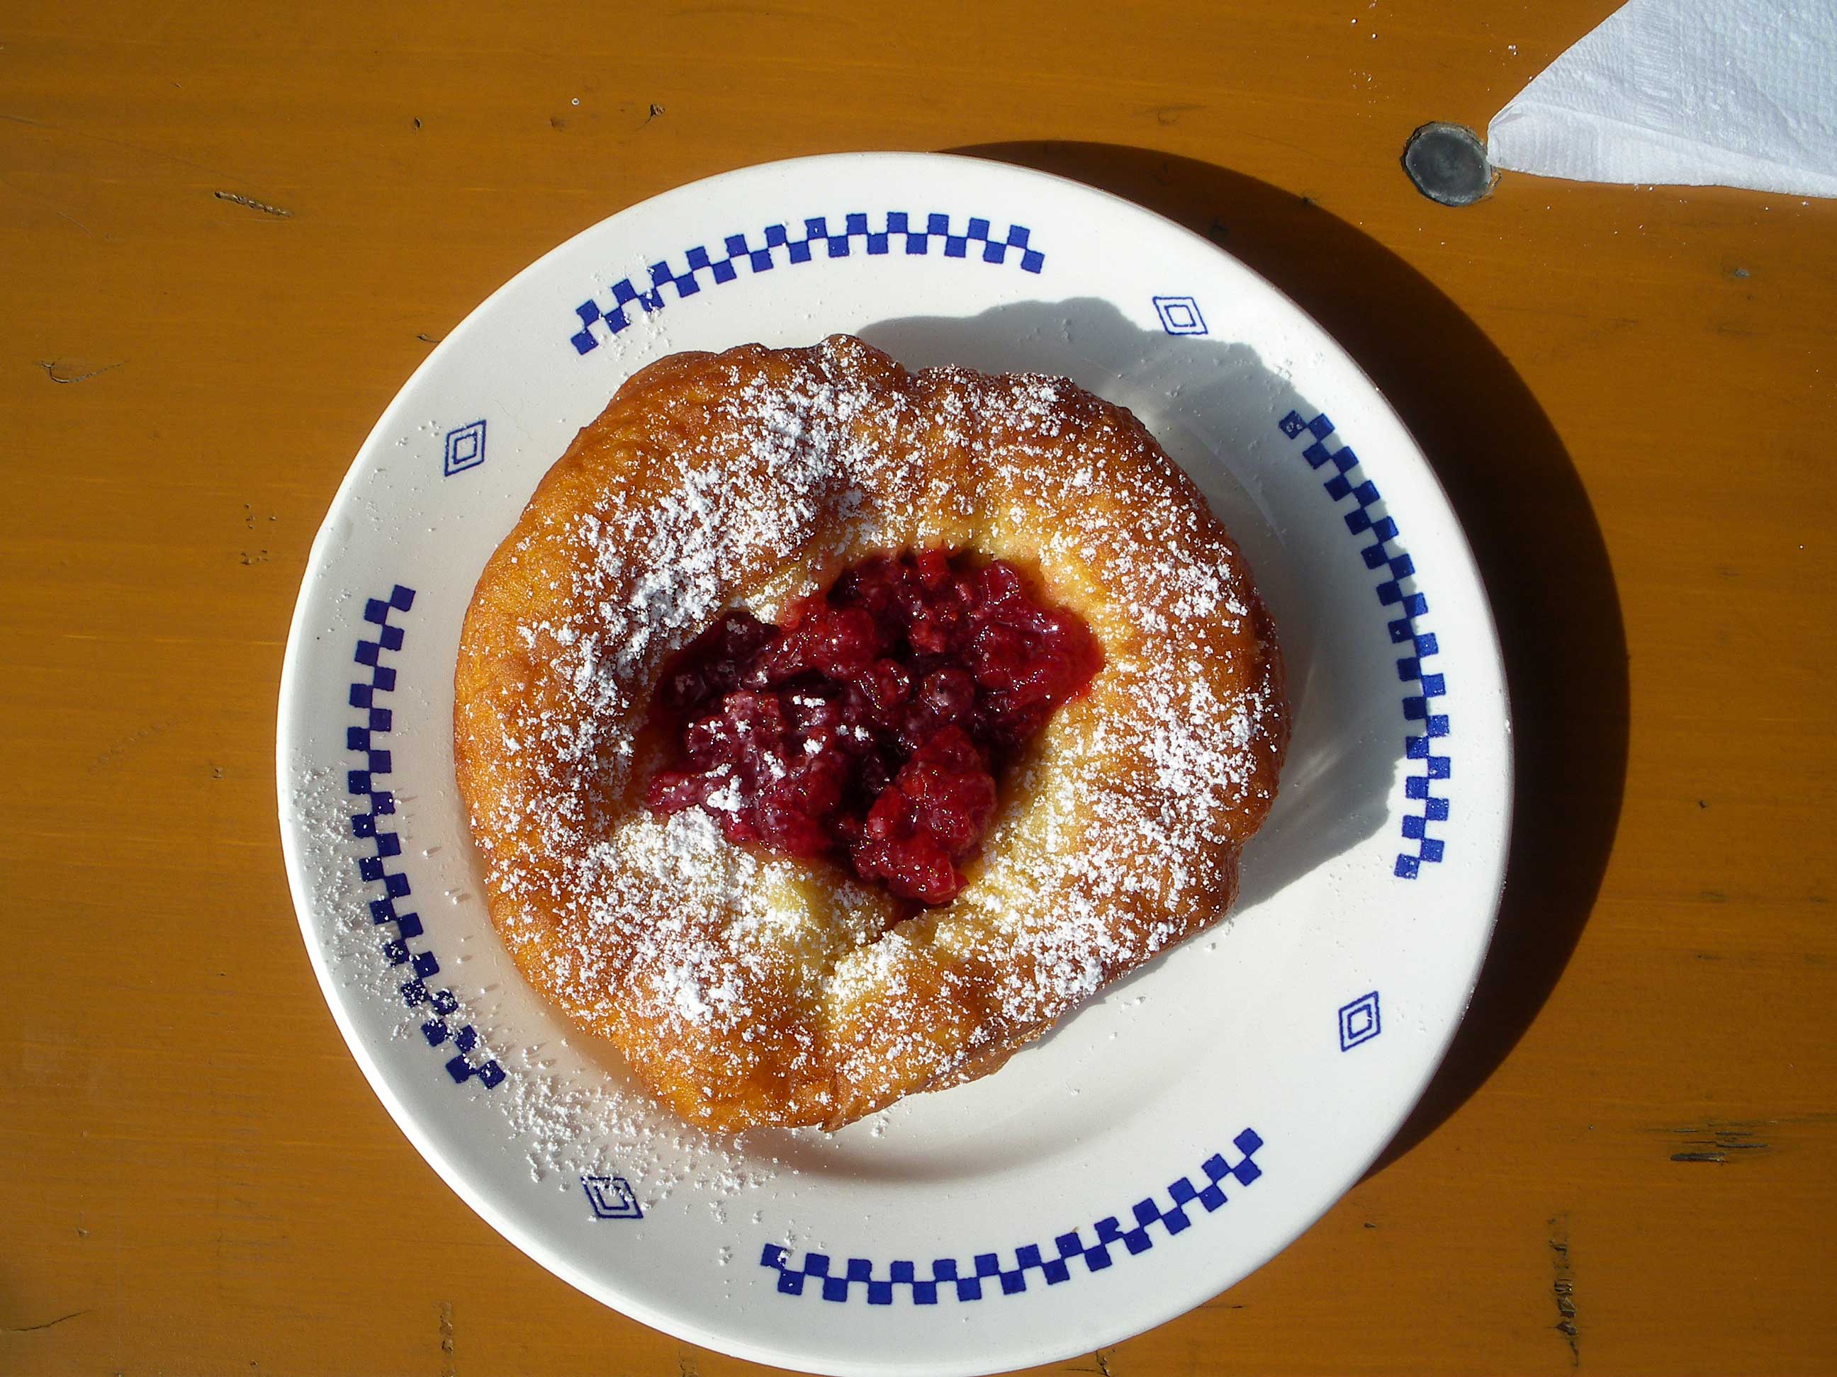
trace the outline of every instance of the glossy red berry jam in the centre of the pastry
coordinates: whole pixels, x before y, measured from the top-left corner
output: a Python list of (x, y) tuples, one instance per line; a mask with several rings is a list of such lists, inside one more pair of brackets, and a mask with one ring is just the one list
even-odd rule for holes
[(1005, 560), (867, 560), (784, 626), (729, 611), (665, 665), (654, 716), (676, 756), (645, 804), (700, 804), (729, 841), (948, 903), (996, 773), (1102, 663), (1084, 621)]

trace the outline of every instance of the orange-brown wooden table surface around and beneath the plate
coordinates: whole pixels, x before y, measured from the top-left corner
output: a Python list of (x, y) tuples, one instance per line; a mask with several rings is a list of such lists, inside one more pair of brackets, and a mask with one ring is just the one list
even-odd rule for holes
[(1064, 1370), (1837, 1370), (1837, 204), (1453, 211), (1398, 167), (1609, 7), (15, 6), (0, 1370), (746, 1366), (538, 1269), (384, 1114), (274, 703), (432, 341), (623, 206), (834, 149), (1069, 173), (1273, 277), (1424, 441), (1508, 643), (1510, 898), (1427, 1102), (1273, 1263)]

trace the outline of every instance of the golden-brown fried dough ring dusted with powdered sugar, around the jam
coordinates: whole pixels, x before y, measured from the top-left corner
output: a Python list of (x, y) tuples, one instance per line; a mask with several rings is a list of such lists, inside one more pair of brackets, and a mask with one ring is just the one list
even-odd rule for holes
[[(836, 389), (865, 398), (834, 430), (867, 457), (812, 479), (761, 441), (757, 398)], [(645, 553), (674, 549), (672, 499), (698, 481), (711, 505), (682, 540), (718, 553), (694, 575), (698, 621), (634, 641), (621, 608), (654, 588)], [(704, 529), (753, 520), (779, 487), (795, 512), (781, 529)], [(770, 615), (873, 551), (933, 545), (1029, 569), (1106, 654), (1005, 782), (968, 889), (882, 933), (891, 901), (832, 867), (744, 856), (705, 830), (672, 843), (691, 859), (659, 863), (665, 824), (637, 793), (667, 654), (720, 608)], [(582, 679), (580, 637), (641, 654), (610, 665), (595, 643)], [(1135, 417), (1065, 382), (913, 375), (847, 336), (632, 376), (487, 564), (454, 687), (457, 782), (518, 968), (683, 1118), (727, 1131), (838, 1127), (988, 1074), (1216, 920), (1288, 740), (1249, 571)]]

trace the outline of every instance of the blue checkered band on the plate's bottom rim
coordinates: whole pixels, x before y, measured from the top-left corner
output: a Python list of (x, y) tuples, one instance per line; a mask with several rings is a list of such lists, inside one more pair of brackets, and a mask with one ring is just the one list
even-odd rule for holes
[[(1231, 1146), (1242, 1153), (1236, 1166), (1227, 1166), (1223, 1155), (1214, 1153), (1200, 1164), (1203, 1184), (1181, 1177), (1166, 1188), (1170, 1204), (1150, 1195), (1135, 1203), (1128, 1219), (1117, 1215), (1099, 1219), (1089, 1228), (1089, 1237), (1086, 1230), (1075, 1228), (1054, 1237), (1051, 1247), (1027, 1243), (1014, 1248), (1012, 1258), (999, 1252), (977, 1252), (968, 1263), (937, 1258), (920, 1276), (915, 1261), (893, 1261), (882, 1272), (867, 1258), (849, 1258), (838, 1265), (825, 1252), (806, 1252), (803, 1263), (794, 1267), (786, 1248), (768, 1243), (759, 1265), (779, 1274), (779, 1291), (786, 1296), (801, 1296), (805, 1287), (812, 1287), (821, 1291), (823, 1300), (843, 1302), (860, 1296), (869, 1305), (891, 1305), (896, 1293), (911, 1296), (913, 1305), (937, 1305), (939, 1296), (957, 1300), (1012, 1296), (1027, 1289), (1029, 1278), (1053, 1287), (1073, 1276), (1113, 1267), (1119, 1258), (1148, 1252), (1157, 1241), (1154, 1225), (1159, 1225), (1166, 1237), (1185, 1234), (1198, 1217), (1203, 1217), (1200, 1210), (1212, 1214), (1229, 1199), (1227, 1181), (1236, 1186), (1257, 1181), (1262, 1168), (1253, 1159), (1264, 1146), (1262, 1138), (1255, 1129), (1244, 1129)], [(1082, 1272), (1075, 1272), (1073, 1263), (1082, 1263)]]

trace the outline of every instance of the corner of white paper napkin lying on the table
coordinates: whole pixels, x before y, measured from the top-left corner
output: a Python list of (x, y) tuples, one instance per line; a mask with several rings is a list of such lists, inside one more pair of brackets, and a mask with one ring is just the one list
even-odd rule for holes
[(1837, 196), (1837, 0), (1631, 0), (1493, 116), (1495, 167)]

